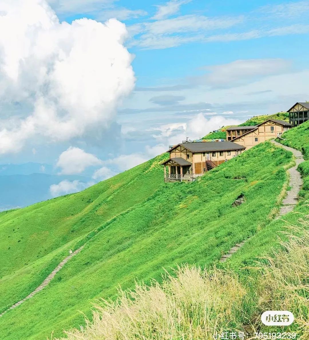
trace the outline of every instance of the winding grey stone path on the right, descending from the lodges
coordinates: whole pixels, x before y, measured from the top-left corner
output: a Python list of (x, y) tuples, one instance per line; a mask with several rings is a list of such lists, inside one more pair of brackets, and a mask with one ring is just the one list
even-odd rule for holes
[[(276, 216), (276, 219), (278, 219), (281, 216), (292, 211), (294, 209), (294, 206), (297, 204), (298, 193), (299, 193), (299, 190), (301, 190), (301, 187), (303, 185), (303, 180), (302, 180), (301, 174), (296, 169), (300, 163), (304, 162), (304, 158), (303, 158), (303, 154), (301, 153), (301, 151), (295, 150), (290, 147), (286, 147), (285, 145), (282, 145), (274, 140), (271, 140), (271, 142), (274, 143), (278, 147), (291, 151), (295, 157), (295, 163), (296, 163), (294, 167), (288, 169), (288, 172), (290, 174), (289, 186), (291, 187), (291, 190), (287, 191), (287, 195), (285, 199), (282, 201), (282, 206), (280, 207), (279, 214)], [(229, 257), (231, 257), (235, 252), (237, 252), (237, 250), (241, 246), (243, 246), (243, 244), (246, 241), (247, 240), (244, 240), (241, 243), (236, 244), (233, 248), (231, 248), (227, 254), (221, 257), (220, 262), (225, 262)]]

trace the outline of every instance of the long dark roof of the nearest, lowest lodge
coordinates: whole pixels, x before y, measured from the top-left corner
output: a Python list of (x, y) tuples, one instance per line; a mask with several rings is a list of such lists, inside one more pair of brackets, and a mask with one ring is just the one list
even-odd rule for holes
[(241, 150), (246, 149), (244, 146), (233, 142), (196, 142), (196, 143), (180, 143), (175, 147), (169, 149), (167, 152), (177, 148), (178, 146), (191, 152), (207, 152), (207, 151), (223, 151), (223, 150)]

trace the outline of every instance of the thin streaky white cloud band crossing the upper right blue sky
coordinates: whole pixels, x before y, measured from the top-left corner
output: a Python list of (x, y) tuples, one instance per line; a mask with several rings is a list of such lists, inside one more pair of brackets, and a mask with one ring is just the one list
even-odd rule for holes
[[(187, 2), (171, 0), (158, 6), (158, 12), (150, 18), (154, 21), (139, 22), (128, 27), (134, 37), (130, 46), (165, 49), (194, 42), (224, 43), (309, 32), (308, 24), (291, 20), (299, 18), (301, 14), (309, 14), (308, 1), (262, 6), (244, 15), (230, 17), (187, 14), (169, 18)], [(286, 20), (283, 21), (283, 18)]]

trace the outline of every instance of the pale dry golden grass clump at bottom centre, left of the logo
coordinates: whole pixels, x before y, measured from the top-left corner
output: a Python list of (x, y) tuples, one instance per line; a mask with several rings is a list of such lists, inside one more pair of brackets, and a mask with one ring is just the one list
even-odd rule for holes
[(67, 332), (70, 340), (213, 339), (215, 331), (239, 324), (246, 291), (238, 280), (214, 269), (188, 266), (160, 285), (120, 291), (116, 302), (97, 307), (92, 323)]

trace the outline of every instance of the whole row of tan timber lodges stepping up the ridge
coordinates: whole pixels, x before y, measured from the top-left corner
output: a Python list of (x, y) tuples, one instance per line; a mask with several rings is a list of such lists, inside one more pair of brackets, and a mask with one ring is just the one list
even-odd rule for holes
[(274, 139), (293, 126), (309, 120), (309, 103), (297, 102), (288, 111), (289, 122), (267, 119), (254, 126), (230, 126), (224, 141), (182, 141), (170, 146), (164, 166), (164, 181), (194, 181), (255, 145)]

